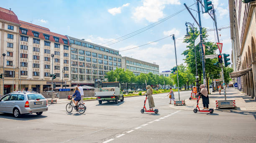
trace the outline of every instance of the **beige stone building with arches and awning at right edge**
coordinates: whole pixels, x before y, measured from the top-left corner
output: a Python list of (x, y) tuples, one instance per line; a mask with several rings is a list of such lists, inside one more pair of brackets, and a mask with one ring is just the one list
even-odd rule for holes
[[(256, 95), (256, 1), (229, 0), (232, 40), (231, 78), (251, 98)], [(255, 98), (256, 101), (256, 98)]]

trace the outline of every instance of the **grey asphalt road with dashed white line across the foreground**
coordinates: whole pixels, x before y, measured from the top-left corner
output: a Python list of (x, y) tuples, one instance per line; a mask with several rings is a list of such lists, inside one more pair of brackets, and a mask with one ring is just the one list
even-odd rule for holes
[(256, 112), (177, 110), (166, 95), (153, 96), (158, 114), (140, 112), (145, 96), (87, 101), (84, 114), (67, 113), (66, 104), (51, 104), (41, 116), (0, 113), (0, 143), (255, 143)]

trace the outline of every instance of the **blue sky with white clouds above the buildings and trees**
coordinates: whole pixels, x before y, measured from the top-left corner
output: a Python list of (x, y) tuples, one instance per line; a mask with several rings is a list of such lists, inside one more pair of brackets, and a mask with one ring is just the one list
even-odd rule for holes
[[(122, 56), (132, 57), (145, 62), (159, 65), (159, 72), (176, 66), (174, 34), (177, 38), (177, 63), (184, 63), (182, 52), (186, 49), (183, 43), (186, 35), (185, 22), (195, 23), (184, 3), (192, 5), (196, 0), (5, 0), (3, 8), (13, 10), (19, 20), (47, 27), (51, 32), (69, 35), (78, 39), (100, 44), (112, 49), (125, 50), (147, 44), (142, 47), (120, 52)], [(212, 0), (216, 10), (218, 27), (229, 26), (228, 0)], [(197, 7), (192, 5), (192, 14), (198, 20)], [(200, 10), (202, 7), (200, 6)], [(111, 40), (140, 30), (148, 25), (162, 20), (183, 10), (172, 18), (156, 25), (131, 38), (115, 44), (104, 44)], [(203, 10), (204, 11), (204, 10)], [(196, 16), (197, 15), (197, 16)], [(213, 29), (213, 21), (205, 13), (201, 15), (202, 27)], [(198, 27), (195, 23), (195, 27)], [(222, 53), (230, 54), (230, 29), (218, 31), (220, 43), (223, 43)], [(208, 32), (207, 41), (218, 42), (214, 31)], [(165, 39), (162, 39), (167, 37)], [(158, 42), (154, 42), (162, 39)], [(108, 46), (107, 46), (108, 45)], [(218, 51), (216, 51), (218, 53)]]

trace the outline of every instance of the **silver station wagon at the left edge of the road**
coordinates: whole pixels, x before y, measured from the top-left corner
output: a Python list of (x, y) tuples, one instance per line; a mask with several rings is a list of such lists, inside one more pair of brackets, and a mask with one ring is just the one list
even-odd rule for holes
[(41, 115), (47, 111), (47, 100), (37, 92), (12, 92), (0, 99), (0, 112), (12, 113), (18, 118), (21, 114), (36, 113)]

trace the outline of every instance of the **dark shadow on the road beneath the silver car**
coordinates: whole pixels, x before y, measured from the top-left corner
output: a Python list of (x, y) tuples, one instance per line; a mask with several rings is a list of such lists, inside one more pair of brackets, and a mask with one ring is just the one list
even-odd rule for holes
[(23, 114), (20, 118), (13, 117), (13, 114), (9, 113), (0, 113), (0, 118), (6, 118), (10, 120), (19, 120), (19, 121), (28, 121), (28, 120), (35, 120), (40, 118), (46, 118), (47, 116), (44, 115), (36, 115), (36, 113), (33, 114)]

